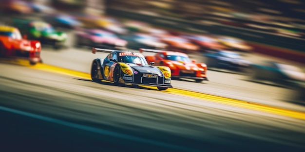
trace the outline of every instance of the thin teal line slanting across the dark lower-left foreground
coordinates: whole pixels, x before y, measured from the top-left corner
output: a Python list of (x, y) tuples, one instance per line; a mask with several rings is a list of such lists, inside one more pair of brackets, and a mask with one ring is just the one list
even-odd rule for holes
[(115, 132), (111, 132), (111, 131), (107, 131), (107, 130), (94, 128), (94, 127), (89, 127), (89, 126), (85, 126), (85, 125), (80, 125), (80, 124), (76, 124), (76, 123), (62, 121), (62, 120), (55, 119), (55, 118), (49, 118), (49, 117), (44, 117), (44, 116), (40, 116), (40, 115), (36, 115), (36, 114), (31, 114), (31, 113), (27, 113), (27, 112), (15, 110), (15, 109), (3, 107), (3, 106), (0, 106), (0, 110), (10, 112), (10, 113), (19, 114), (19, 115), (26, 116), (26, 117), (37, 118), (37, 119), (52, 122), (52, 123), (57, 123), (57, 124), (60, 124), (60, 125), (64, 125), (64, 126), (68, 126), (68, 127), (72, 127), (72, 128), (76, 128), (76, 129), (81, 129), (81, 130), (85, 130), (85, 131), (89, 131), (89, 132), (94, 132), (94, 133), (97, 133), (97, 134), (110, 135), (110, 136), (114, 136), (114, 137), (119, 137), (119, 138), (133, 140), (133, 141), (142, 142), (142, 143), (148, 143), (148, 144), (167, 147), (167, 148), (176, 149), (176, 150), (182, 150), (182, 151), (188, 151), (188, 152), (201, 152), (201, 151), (193, 150), (191, 148), (186, 148), (186, 147), (182, 147), (182, 146), (178, 146), (178, 145), (172, 145), (172, 144), (166, 144), (166, 143), (153, 141), (153, 140), (149, 140), (149, 139), (145, 139), (145, 138), (134, 137), (134, 136), (131, 136), (131, 135), (119, 134), (119, 133), (115, 133)]

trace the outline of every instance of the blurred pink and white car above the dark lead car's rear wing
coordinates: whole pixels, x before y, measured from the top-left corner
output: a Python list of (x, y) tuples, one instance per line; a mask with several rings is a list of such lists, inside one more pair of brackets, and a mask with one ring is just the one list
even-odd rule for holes
[(102, 47), (107, 49), (126, 49), (128, 42), (111, 32), (99, 29), (77, 29), (76, 45)]

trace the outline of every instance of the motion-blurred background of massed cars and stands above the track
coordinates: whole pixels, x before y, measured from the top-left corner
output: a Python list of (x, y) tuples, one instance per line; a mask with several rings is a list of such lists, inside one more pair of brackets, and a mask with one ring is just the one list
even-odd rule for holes
[(209, 70), (242, 67), (238, 74), (253, 81), (304, 88), (303, 0), (1, 0), (0, 10), (1, 24), (41, 41), (42, 54), (48, 47), (181, 51)]

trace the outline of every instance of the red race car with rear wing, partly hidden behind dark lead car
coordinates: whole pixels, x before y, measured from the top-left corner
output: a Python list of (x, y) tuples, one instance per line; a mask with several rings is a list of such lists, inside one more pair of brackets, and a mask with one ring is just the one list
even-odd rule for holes
[(171, 69), (172, 78), (188, 78), (196, 82), (208, 81), (207, 65), (196, 63), (191, 60), (186, 53), (176, 51), (162, 51), (152, 49), (139, 49), (143, 51), (155, 52), (154, 56), (145, 56), (148, 62), (154, 62), (156, 66), (167, 66)]

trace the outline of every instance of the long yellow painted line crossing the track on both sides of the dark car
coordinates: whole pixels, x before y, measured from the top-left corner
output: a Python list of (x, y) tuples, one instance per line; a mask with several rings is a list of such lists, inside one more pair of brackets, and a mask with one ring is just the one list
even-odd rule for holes
[[(91, 79), (91, 76), (88, 73), (70, 70), (70, 69), (66, 69), (66, 68), (59, 68), (59, 67), (45, 65), (45, 64), (37, 64), (35, 66), (30, 66), (28, 64), (28, 62), (23, 62), (23, 61), (18, 61), (18, 62), (14, 61), (11, 63), (17, 63), (19, 65), (26, 66), (29, 68), (35, 68), (35, 69), (39, 69), (39, 70), (69, 75), (69, 76), (78, 77), (78, 78), (82, 78), (82, 79)], [(152, 87), (152, 86), (144, 86), (144, 85), (141, 85), (141, 86), (156, 89), (156, 87)], [(224, 97), (219, 97), (219, 96), (214, 96), (214, 95), (209, 95), (209, 94), (204, 94), (204, 93), (199, 93), (199, 92), (175, 89), (175, 88), (168, 88), (167, 90), (162, 91), (162, 92), (175, 94), (175, 95), (179, 95), (179, 96), (187, 96), (187, 97), (200, 99), (200, 100), (204, 100), (204, 101), (221, 103), (221, 104), (226, 104), (226, 105), (231, 105), (231, 106), (236, 106), (236, 107), (241, 107), (241, 108), (246, 108), (246, 109), (251, 109), (251, 110), (257, 110), (257, 111), (261, 111), (261, 112), (267, 112), (267, 113), (271, 113), (271, 114), (287, 116), (287, 117), (291, 117), (291, 118), (305, 119), (305, 113), (277, 108), (277, 107), (271, 107), (271, 106), (267, 106), (267, 105), (263, 105), (263, 104), (250, 103), (247, 101), (240, 101), (240, 100), (229, 99), (229, 98), (224, 98)]]

